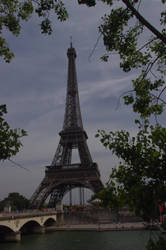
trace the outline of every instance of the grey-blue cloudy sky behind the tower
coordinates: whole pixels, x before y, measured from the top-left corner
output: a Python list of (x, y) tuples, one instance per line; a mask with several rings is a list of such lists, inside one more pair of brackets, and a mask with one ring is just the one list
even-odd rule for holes
[[(140, 11), (157, 24), (160, 1), (144, 2)], [(0, 163), (0, 199), (9, 192), (20, 192), (29, 198), (44, 177), (45, 166), (51, 164), (64, 119), (66, 52), (70, 36), (77, 51), (77, 78), (88, 146), (93, 160), (99, 165), (103, 183), (108, 180), (116, 160), (95, 138), (97, 129), (135, 130), (134, 115), (119, 99), (131, 89), (130, 81), (135, 72), (123, 73), (117, 55), (112, 56), (109, 63), (101, 62), (102, 39), (90, 57), (99, 36), (101, 16), (108, 8), (100, 3), (95, 8), (79, 6), (77, 1), (65, 3), (70, 18), (64, 23), (56, 21), (51, 36), (40, 34), (39, 20), (35, 16), (24, 24), (19, 37), (6, 34), (15, 58), (10, 64), (1, 59), (0, 98), (2, 104), (7, 104), (6, 119), (11, 126), (28, 132), (22, 140), (24, 147), (12, 160), (29, 171), (9, 161)]]

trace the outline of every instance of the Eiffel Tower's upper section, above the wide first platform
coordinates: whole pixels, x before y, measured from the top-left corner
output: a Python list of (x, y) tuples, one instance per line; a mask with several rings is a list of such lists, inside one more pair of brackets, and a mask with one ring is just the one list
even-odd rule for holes
[(63, 129), (59, 133), (61, 139), (56, 150), (52, 167), (64, 167), (71, 165), (72, 150), (78, 149), (80, 167), (92, 166), (92, 158), (86, 143), (88, 136), (83, 128), (80, 110), (77, 73), (76, 73), (76, 51), (70, 45), (67, 50), (68, 56), (68, 77), (66, 107)]

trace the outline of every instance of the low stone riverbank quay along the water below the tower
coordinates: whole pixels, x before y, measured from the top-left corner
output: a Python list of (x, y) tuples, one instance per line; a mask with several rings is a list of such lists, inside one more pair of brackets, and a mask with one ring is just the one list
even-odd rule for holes
[(57, 227), (49, 227), (49, 231), (136, 231), (146, 230), (143, 222), (135, 223), (111, 223), (111, 224), (86, 224), (86, 225), (60, 225)]

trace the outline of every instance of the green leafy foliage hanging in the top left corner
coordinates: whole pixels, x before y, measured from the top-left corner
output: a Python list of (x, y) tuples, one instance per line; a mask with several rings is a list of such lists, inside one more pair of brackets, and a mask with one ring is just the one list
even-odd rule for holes
[(18, 36), (22, 23), (36, 13), (41, 18), (41, 32), (50, 35), (52, 25), (49, 16), (52, 12), (60, 21), (68, 18), (64, 3), (60, 0), (0, 0), (0, 56), (8, 63), (14, 56), (4, 37), (5, 30)]

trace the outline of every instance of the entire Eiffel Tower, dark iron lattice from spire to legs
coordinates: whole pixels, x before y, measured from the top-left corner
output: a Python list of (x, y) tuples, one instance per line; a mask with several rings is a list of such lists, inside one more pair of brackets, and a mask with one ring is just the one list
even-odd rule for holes
[[(86, 142), (88, 136), (83, 128), (75, 65), (76, 51), (72, 43), (67, 56), (68, 80), (63, 129), (59, 133), (60, 142), (53, 161), (50, 166), (46, 166), (45, 177), (31, 197), (31, 207), (34, 208), (40, 208), (48, 196), (49, 207), (55, 207), (73, 188), (88, 188), (94, 193), (103, 188), (98, 166), (92, 161)], [(80, 163), (71, 163), (73, 149), (78, 150)]]

